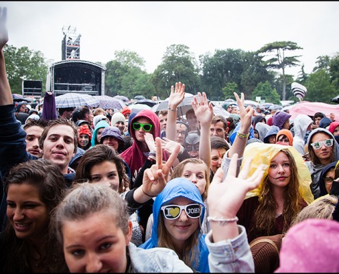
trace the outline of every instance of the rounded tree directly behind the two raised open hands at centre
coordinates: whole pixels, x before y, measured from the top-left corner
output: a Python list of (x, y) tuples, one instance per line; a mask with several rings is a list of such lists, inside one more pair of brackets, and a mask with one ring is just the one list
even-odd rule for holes
[(155, 69), (151, 81), (155, 86), (155, 92), (169, 96), (171, 86), (175, 82), (185, 84), (185, 91), (197, 94), (199, 91), (198, 65), (194, 54), (186, 45), (171, 45), (166, 48), (162, 57), (162, 63)]

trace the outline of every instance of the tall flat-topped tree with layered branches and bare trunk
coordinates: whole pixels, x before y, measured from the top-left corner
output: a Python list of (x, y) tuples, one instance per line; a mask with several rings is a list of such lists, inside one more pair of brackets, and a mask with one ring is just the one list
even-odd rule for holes
[[(297, 66), (300, 61), (297, 60), (298, 56), (285, 56), (285, 51), (294, 51), (297, 49), (303, 49), (299, 47), (297, 43), (291, 41), (279, 41), (279, 42), (272, 42), (269, 44), (264, 45), (258, 53), (267, 54), (267, 53), (274, 53), (273, 57), (264, 61), (264, 63), (271, 69), (281, 69), (282, 70), (282, 77), (283, 77), (283, 90), (282, 90), (282, 99), (286, 100), (286, 79), (285, 79), (285, 68), (287, 66)], [(266, 55), (268, 57), (268, 55)]]

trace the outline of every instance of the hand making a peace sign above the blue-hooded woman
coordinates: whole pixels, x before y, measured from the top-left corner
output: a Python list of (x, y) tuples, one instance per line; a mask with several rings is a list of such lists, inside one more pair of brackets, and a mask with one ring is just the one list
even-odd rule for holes
[(156, 145), (156, 162), (151, 166), (151, 168), (146, 169), (144, 172), (144, 177), (142, 179), (142, 186), (140, 186), (144, 193), (147, 193), (147, 196), (157, 196), (168, 182), (168, 175), (171, 171), (171, 166), (179, 154), (180, 145), (177, 144), (173, 153), (168, 158), (167, 162), (162, 162), (162, 144), (159, 137), (155, 138)]

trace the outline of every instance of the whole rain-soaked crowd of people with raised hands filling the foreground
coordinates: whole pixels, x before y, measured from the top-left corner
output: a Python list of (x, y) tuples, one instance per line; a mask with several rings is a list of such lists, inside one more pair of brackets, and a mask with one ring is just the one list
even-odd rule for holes
[(6, 15), (3, 273), (339, 271), (335, 114), (292, 120), (235, 92), (225, 117), (197, 92), (179, 116), (181, 82), (158, 112), (57, 109), (49, 92), (27, 113), (6, 75)]

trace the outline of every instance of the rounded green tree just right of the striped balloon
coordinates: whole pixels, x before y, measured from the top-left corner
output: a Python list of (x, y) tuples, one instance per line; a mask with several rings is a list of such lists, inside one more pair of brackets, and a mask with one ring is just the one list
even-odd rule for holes
[(307, 94), (305, 101), (331, 103), (330, 100), (338, 95), (338, 90), (333, 83), (329, 73), (325, 69), (320, 69), (310, 74), (305, 84)]

